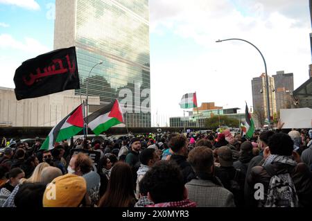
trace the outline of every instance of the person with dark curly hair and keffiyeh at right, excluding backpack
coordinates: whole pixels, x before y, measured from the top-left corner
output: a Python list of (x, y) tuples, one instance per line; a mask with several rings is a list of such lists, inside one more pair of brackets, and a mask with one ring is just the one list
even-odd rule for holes
[[(305, 163), (300, 163), (300, 157), (294, 151), (293, 144), (291, 136), (282, 132), (270, 137), (268, 147), (263, 152), (264, 163), (260, 166), (254, 166), (248, 177), (246, 177), (248, 187), (252, 190), (248, 195), (247, 206), (265, 206), (272, 177), (270, 174), (273, 172), (273, 175), (288, 173), (290, 175), (289, 179), (291, 179), (288, 183), (293, 182), (295, 186), (299, 206), (311, 207), (312, 174)], [(272, 171), (268, 172), (268, 167)], [(263, 184), (263, 199), (255, 199), (254, 197), (256, 191), (259, 190), (259, 188), (254, 188), (256, 184)]]

